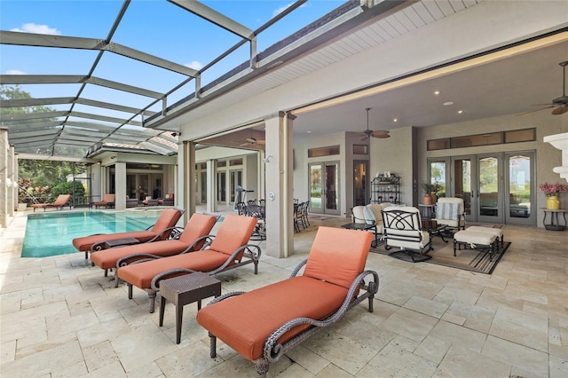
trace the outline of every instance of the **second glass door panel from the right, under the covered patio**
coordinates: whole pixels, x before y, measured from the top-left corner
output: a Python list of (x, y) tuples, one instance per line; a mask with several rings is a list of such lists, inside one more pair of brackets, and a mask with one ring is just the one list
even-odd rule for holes
[(477, 159), (479, 222), (502, 223), (503, 204), (500, 193), (499, 157), (484, 156)]

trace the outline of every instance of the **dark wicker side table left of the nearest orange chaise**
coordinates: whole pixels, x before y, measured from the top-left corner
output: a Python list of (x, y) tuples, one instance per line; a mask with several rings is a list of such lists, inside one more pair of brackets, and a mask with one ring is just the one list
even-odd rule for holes
[(221, 281), (207, 273), (195, 272), (160, 282), (160, 327), (163, 326), (163, 312), (166, 300), (176, 305), (176, 343), (181, 340), (181, 322), (184, 317), (184, 306), (197, 302), (201, 310), (201, 299), (221, 295)]

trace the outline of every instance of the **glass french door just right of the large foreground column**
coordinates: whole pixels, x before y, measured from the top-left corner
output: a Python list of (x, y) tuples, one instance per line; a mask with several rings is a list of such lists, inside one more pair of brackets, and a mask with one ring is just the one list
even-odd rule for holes
[(339, 161), (313, 162), (310, 171), (310, 212), (339, 215)]

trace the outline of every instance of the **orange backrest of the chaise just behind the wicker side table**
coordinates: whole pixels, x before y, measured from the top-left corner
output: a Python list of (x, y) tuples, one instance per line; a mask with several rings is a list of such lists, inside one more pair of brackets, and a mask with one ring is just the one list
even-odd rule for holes
[[(219, 226), (210, 249), (231, 256), (233, 252), (247, 244), (252, 232), (255, 230), (256, 217), (237, 216), (228, 214)], [(242, 251), (244, 253), (244, 250)], [(240, 260), (237, 256), (236, 260)]]

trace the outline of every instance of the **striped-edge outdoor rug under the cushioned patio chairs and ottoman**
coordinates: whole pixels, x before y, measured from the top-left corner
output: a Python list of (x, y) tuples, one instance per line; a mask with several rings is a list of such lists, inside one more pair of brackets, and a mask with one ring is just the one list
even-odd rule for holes
[[(489, 261), (489, 254), (486, 249), (479, 251), (477, 249), (461, 248), (461, 250), (456, 250), (457, 256), (454, 257), (454, 240), (451, 236), (445, 236), (445, 239), (448, 240), (447, 244), (438, 236), (433, 238), (432, 245), (434, 249), (428, 253), (428, 255), (432, 256), (432, 258), (423, 263), (444, 265), (452, 268), (463, 269), (464, 271), (491, 274), (511, 244), (510, 241), (505, 241), (503, 243), (503, 247), (501, 247), (500, 244), (500, 250), (493, 251), (493, 261)], [(397, 250), (398, 248), (391, 248), (387, 251), (384, 249), (382, 244), (376, 248), (370, 249), (371, 252), (382, 255), (389, 255), (391, 252), (396, 252)], [(406, 253), (398, 253), (397, 258), (412, 263), (411, 257), (406, 255)]]

